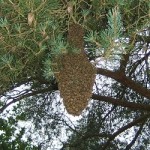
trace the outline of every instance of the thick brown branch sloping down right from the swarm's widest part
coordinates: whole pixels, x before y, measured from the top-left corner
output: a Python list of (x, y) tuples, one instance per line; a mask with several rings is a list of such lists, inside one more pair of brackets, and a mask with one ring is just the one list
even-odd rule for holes
[(114, 80), (122, 83), (123, 85), (125, 85), (125, 86), (133, 89), (134, 91), (136, 91), (140, 95), (142, 95), (142, 96), (150, 99), (150, 90), (149, 89), (146, 89), (142, 85), (134, 82), (130, 78), (126, 77), (120, 71), (113, 72), (113, 71), (110, 71), (110, 70), (106, 70), (106, 69), (102, 69), (102, 68), (97, 68), (97, 74), (110, 77), (110, 78), (112, 78), (112, 79), (114, 79)]

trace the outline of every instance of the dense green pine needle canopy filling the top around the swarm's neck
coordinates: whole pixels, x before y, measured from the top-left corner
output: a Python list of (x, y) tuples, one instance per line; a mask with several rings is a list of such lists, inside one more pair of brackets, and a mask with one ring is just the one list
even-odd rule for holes
[[(148, 4), (147, 1), (145, 3)], [(136, 10), (136, 7), (147, 12), (146, 4), (134, 0), (130, 2), (114, 0), (105, 3), (97, 0), (91, 3), (74, 1), (73, 17), (76, 22), (88, 29), (85, 41), (93, 43), (100, 51), (104, 48), (104, 52), (101, 53), (104, 57), (109, 58), (116, 51), (124, 53), (120, 47), (126, 47), (125, 43), (116, 42), (116, 40), (124, 37), (123, 32), (126, 27), (131, 32), (132, 24), (136, 24), (139, 30), (143, 25), (148, 24), (148, 16), (140, 11), (137, 16), (139, 20), (131, 22), (131, 19), (127, 22), (128, 18), (132, 18), (131, 16), (135, 14), (136, 11), (133, 10)], [(75, 53), (79, 52), (77, 49), (69, 48), (67, 43), (68, 24), (72, 20), (67, 14), (65, 3), (58, 0), (1, 1), (0, 10), (0, 57), (2, 57), (1, 60), (4, 56), (8, 57), (7, 60), (13, 57), (15, 62), (15, 66), (10, 63), (9, 66), (8, 64), (5, 66), (5, 68), (11, 68), (12, 73), (8, 73), (7, 76), (1, 74), (1, 78), (5, 80), (4, 88), (8, 88), (10, 83), (18, 82), (18, 78), (24, 80), (26, 74), (29, 76), (33, 76), (33, 72), (51, 74), (51, 70), (50, 73), (45, 73), (48, 72), (48, 69), (42, 63), (49, 54), (55, 57), (70, 52), (70, 50)], [(90, 22), (93, 24), (92, 27)], [(37, 72), (39, 66), (41, 70)], [(0, 70), (3, 69), (2, 66)], [(11, 77), (12, 75), (14, 77)], [(46, 78), (49, 78), (49, 75)]]

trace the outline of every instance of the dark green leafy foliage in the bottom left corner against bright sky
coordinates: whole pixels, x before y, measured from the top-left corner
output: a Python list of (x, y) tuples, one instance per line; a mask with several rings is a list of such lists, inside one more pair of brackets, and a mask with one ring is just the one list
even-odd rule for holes
[(32, 150), (37, 150), (38, 147), (31, 145), (29, 142), (24, 142), (22, 136), (25, 133), (24, 128), (22, 128), (19, 133), (16, 132), (17, 120), (13, 117), (5, 119), (0, 119), (0, 148), (4, 150), (14, 150), (14, 149), (26, 149), (27, 147)]

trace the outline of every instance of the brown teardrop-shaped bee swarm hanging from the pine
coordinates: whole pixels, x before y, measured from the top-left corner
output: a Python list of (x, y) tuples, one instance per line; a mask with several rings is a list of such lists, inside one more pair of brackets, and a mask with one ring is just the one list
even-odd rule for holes
[[(69, 28), (69, 44), (80, 49), (80, 53), (61, 56), (62, 69), (56, 74), (58, 88), (68, 113), (80, 115), (92, 95), (96, 70), (88, 61), (84, 51), (83, 29), (73, 24)], [(59, 59), (60, 60), (60, 59)]]

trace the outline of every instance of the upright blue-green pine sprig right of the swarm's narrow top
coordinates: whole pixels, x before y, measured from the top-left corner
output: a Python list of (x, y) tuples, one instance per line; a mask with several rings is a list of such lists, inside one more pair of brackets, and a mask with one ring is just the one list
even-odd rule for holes
[(85, 41), (95, 44), (97, 48), (104, 48), (104, 53), (101, 53), (103, 53), (102, 55), (104, 57), (109, 58), (117, 53), (118, 48), (123, 47), (124, 43), (117, 42), (117, 40), (121, 39), (124, 27), (118, 7), (109, 10), (107, 19), (107, 29), (100, 31), (99, 33), (90, 31), (86, 35)]

